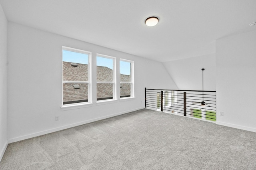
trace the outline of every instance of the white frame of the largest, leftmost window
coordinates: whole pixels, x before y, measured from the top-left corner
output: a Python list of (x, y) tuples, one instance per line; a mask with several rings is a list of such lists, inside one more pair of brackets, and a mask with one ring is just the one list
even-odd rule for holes
[[(91, 105), (92, 104), (92, 82), (91, 82), (91, 77), (92, 77), (92, 71), (91, 71), (91, 57), (92, 57), (92, 52), (90, 51), (85, 51), (85, 50), (81, 50), (81, 49), (75, 49), (75, 48), (71, 48), (71, 47), (65, 47), (62, 46), (62, 53), (63, 50), (66, 51), (72, 51), (75, 53), (82, 53), (82, 54), (86, 54), (88, 55), (88, 81), (64, 81), (63, 80), (63, 64), (62, 64), (62, 110), (68, 110), (68, 109), (73, 109), (73, 106), (75, 106), (74, 108), (81, 108), (81, 107), (87, 107), (87, 106), (83, 106), (83, 105)], [(63, 62), (63, 54), (62, 54), (62, 62)], [(88, 101), (87, 102), (78, 102), (78, 103), (72, 103), (72, 104), (63, 104), (63, 84), (64, 83), (84, 83), (84, 84), (88, 84)], [(68, 108), (72, 106), (72, 108)]]

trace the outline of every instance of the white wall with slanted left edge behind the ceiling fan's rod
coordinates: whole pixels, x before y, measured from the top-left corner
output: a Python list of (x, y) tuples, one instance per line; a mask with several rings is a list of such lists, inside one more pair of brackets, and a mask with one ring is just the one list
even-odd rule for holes
[(204, 90), (216, 90), (215, 54), (192, 57), (163, 63), (180, 90), (202, 90), (202, 68), (204, 68)]

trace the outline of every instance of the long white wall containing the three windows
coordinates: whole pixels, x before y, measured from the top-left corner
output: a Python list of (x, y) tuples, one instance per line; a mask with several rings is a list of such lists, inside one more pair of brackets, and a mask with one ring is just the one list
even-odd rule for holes
[[(60, 109), (62, 45), (92, 52), (92, 107)], [(134, 100), (96, 105), (96, 53), (134, 61)], [(8, 23), (8, 62), (10, 142), (144, 108), (145, 87), (177, 88), (162, 63), (16, 23)]]

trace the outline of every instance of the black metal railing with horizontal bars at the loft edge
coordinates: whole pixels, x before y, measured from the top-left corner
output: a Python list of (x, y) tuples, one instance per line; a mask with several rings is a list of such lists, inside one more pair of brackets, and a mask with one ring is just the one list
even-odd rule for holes
[(145, 88), (145, 107), (216, 121), (216, 91)]

